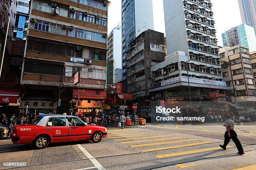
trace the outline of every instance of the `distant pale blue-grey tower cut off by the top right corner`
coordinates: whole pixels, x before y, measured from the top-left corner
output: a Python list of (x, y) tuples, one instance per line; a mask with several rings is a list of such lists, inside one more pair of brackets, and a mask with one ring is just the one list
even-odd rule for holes
[(238, 0), (242, 22), (254, 28), (256, 32), (256, 1)]

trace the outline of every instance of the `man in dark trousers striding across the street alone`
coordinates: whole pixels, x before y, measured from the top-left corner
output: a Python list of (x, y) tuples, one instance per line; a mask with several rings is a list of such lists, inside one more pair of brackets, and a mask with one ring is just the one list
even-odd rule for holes
[(238, 149), (238, 153), (239, 154), (244, 154), (243, 152), (243, 147), (240, 143), (240, 141), (237, 138), (237, 134), (235, 132), (235, 122), (233, 120), (230, 119), (230, 115), (226, 114), (224, 115), (224, 119), (225, 119), (225, 126), (226, 127), (226, 132), (225, 132), (225, 140), (224, 140), (224, 145), (220, 145), (220, 148), (223, 148), (224, 150), (226, 150), (226, 146), (228, 145), (230, 138), (233, 140), (233, 142), (236, 144), (236, 148)]

